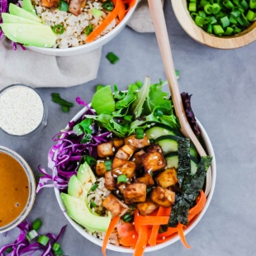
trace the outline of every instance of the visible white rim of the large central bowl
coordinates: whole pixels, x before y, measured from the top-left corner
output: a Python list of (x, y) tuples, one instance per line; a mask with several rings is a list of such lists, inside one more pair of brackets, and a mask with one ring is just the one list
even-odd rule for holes
[[(78, 121), (78, 119), (84, 114), (84, 112), (87, 111), (87, 107), (84, 107), (81, 111), (78, 112), (78, 114), (76, 116), (73, 117), (73, 119), (71, 121)], [(184, 231), (184, 234), (186, 235), (188, 232), (190, 232), (196, 225), (197, 223), (201, 220), (201, 217), (204, 216), (204, 214), (206, 213), (206, 210), (208, 208), (208, 206), (210, 205), (211, 202), (211, 197), (213, 195), (214, 192), (214, 188), (215, 188), (215, 184), (216, 184), (216, 159), (215, 159), (215, 154), (211, 145), (211, 140), (209, 139), (208, 135), (206, 134), (206, 130), (203, 128), (203, 126), (201, 126), (201, 123), (199, 121), (198, 125), (201, 129), (201, 136), (202, 136), (202, 140), (205, 142), (206, 145), (206, 149), (209, 155), (211, 155), (213, 157), (212, 162), (211, 162), (211, 172), (212, 172), (212, 183), (211, 183), (211, 191), (207, 197), (207, 201), (206, 201), (206, 206), (204, 207), (204, 209), (201, 211), (201, 213), (196, 217), (195, 220), (192, 221), (192, 224), (188, 226), (188, 228)], [(66, 126), (66, 129), (69, 129), (69, 126)], [(97, 239), (96, 237), (89, 235), (81, 225), (78, 225), (74, 220), (72, 220), (69, 215), (66, 213), (65, 211), (65, 207), (63, 202), (61, 201), (61, 198), (59, 196), (59, 189), (57, 187), (55, 187), (55, 196), (57, 198), (57, 201), (59, 202), (59, 207), (60, 209), (64, 212), (64, 216), (67, 218), (67, 220), (69, 220), (69, 223), (71, 225), (73, 225), (75, 230), (78, 230), (78, 232), (83, 235), (83, 237), (85, 237), (86, 239), (88, 239), (89, 241), (91, 241), (94, 244), (97, 244), (99, 246), (102, 247), (102, 240), (101, 239)], [(198, 238), (200, 239), (200, 238)], [(176, 235), (175, 237), (173, 237), (173, 239), (168, 240), (166, 243), (163, 244), (158, 244), (156, 246), (153, 247), (147, 247), (145, 249), (145, 252), (151, 252), (157, 249), (162, 249), (170, 244), (173, 244), (174, 242), (179, 240), (179, 236)], [(120, 252), (120, 253), (133, 253), (134, 250), (133, 249), (129, 249), (123, 246), (116, 246), (113, 244), (107, 244), (107, 249), (110, 249), (112, 251), (116, 251), (116, 252)]]

